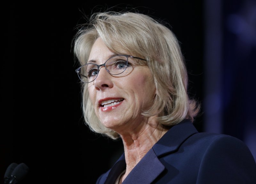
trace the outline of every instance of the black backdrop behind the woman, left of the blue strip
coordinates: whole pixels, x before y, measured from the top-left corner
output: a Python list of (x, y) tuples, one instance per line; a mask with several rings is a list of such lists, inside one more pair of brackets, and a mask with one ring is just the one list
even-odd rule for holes
[[(9, 164), (23, 162), (30, 169), (27, 183), (93, 184), (121, 154), (120, 140), (97, 136), (83, 124), (71, 48), (82, 17), (112, 6), (137, 8), (172, 26), (186, 59), (190, 95), (204, 101), (204, 1), (9, 3), (2, 7), (1, 178)], [(204, 131), (204, 115), (195, 125)]]

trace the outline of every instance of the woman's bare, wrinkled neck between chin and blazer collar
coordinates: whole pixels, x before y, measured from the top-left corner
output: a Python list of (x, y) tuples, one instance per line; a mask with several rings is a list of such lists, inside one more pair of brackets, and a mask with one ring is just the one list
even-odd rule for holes
[(126, 161), (126, 172), (122, 177), (122, 181), (152, 146), (168, 131), (168, 129), (156, 122), (156, 117), (149, 117), (140, 125), (132, 131), (120, 134), (124, 144)]

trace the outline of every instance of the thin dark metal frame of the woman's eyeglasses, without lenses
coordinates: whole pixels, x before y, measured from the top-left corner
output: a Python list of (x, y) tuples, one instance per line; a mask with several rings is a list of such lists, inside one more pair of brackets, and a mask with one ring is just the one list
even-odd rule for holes
[[(140, 57), (135, 57), (135, 56), (132, 56), (132, 55), (114, 55), (114, 56), (108, 58), (107, 61), (108, 61), (109, 59), (113, 58), (113, 57), (116, 57), (116, 56), (125, 56), (125, 57), (127, 58), (125, 70), (126, 70), (127, 65), (128, 65), (128, 58), (134, 58), (134, 59), (140, 59), (140, 60), (143, 60), (143, 61), (147, 61), (146, 59), (142, 59), (142, 58), (140, 58)], [(94, 81), (94, 80), (98, 77), (98, 74), (99, 74), (99, 72), (100, 72), (100, 67), (101, 67), (101, 66), (104, 66), (105, 69), (107, 70), (107, 72), (108, 72), (110, 75), (119, 75), (119, 74), (121, 74), (121, 73), (123, 73), (123, 72), (125, 71), (125, 70), (124, 70), (124, 71), (122, 71), (122, 72), (119, 73), (119, 74), (111, 74), (111, 73), (109, 72), (109, 70), (107, 69), (107, 67), (106, 67), (107, 61), (105, 61), (105, 63), (100, 64), (100, 65), (95, 64), (95, 63), (86, 63), (86, 64), (84, 64), (84, 65), (78, 67), (78, 68), (75, 70), (76, 73), (77, 73), (77, 75), (78, 75), (78, 78), (80, 79), (80, 81), (82, 81), (82, 79), (80, 78), (80, 75), (82, 75), (83, 77), (86, 77), (86, 76), (84, 76), (83, 74), (81, 74), (79, 71), (80, 71), (80, 69), (81, 69), (83, 66), (85, 66), (85, 65), (87, 65), (87, 64), (94, 64), (94, 65), (96, 65), (96, 66), (98, 67), (98, 69), (97, 69), (97, 76), (96, 76), (92, 81)], [(88, 78), (88, 77), (86, 77), (86, 78)], [(90, 82), (92, 82), (92, 81), (90, 81)], [(84, 81), (82, 81), (82, 82), (83, 82), (83, 83), (90, 83), (90, 82), (84, 82)]]

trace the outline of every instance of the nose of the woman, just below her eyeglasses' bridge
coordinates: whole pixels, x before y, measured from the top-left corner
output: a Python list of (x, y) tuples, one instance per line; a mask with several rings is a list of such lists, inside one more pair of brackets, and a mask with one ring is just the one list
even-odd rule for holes
[(113, 82), (111, 80), (112, 76), (108, 73), (104, 66), (99, 68), (99, 73), (94, 82), (94, 87), (96, 90), (105, 90), (107, 88), (113, 87)]

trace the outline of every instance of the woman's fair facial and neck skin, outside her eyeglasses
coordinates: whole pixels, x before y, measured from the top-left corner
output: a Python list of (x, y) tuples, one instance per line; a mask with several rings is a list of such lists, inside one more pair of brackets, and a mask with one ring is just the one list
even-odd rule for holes
[[(98, 38), (93, 44), (89, 62), (100, 65), (112, 55), (114, 53)], [(146, 118), (141, 115), (152, 105), (156, 89), (149, 68), (136, 65), (136, 59), (132, 60), (130, 67), (133, 68), (129, 74), (112, 76), (102, 67), (98, 77), (88, 84), (97, 117), (105, 127), (116, 131), (124, 143), (126, 172), (120, 182), (167, 131), (155, 116)], [(118, 104), (101, 105), (110, 99), (118, 101)]]

